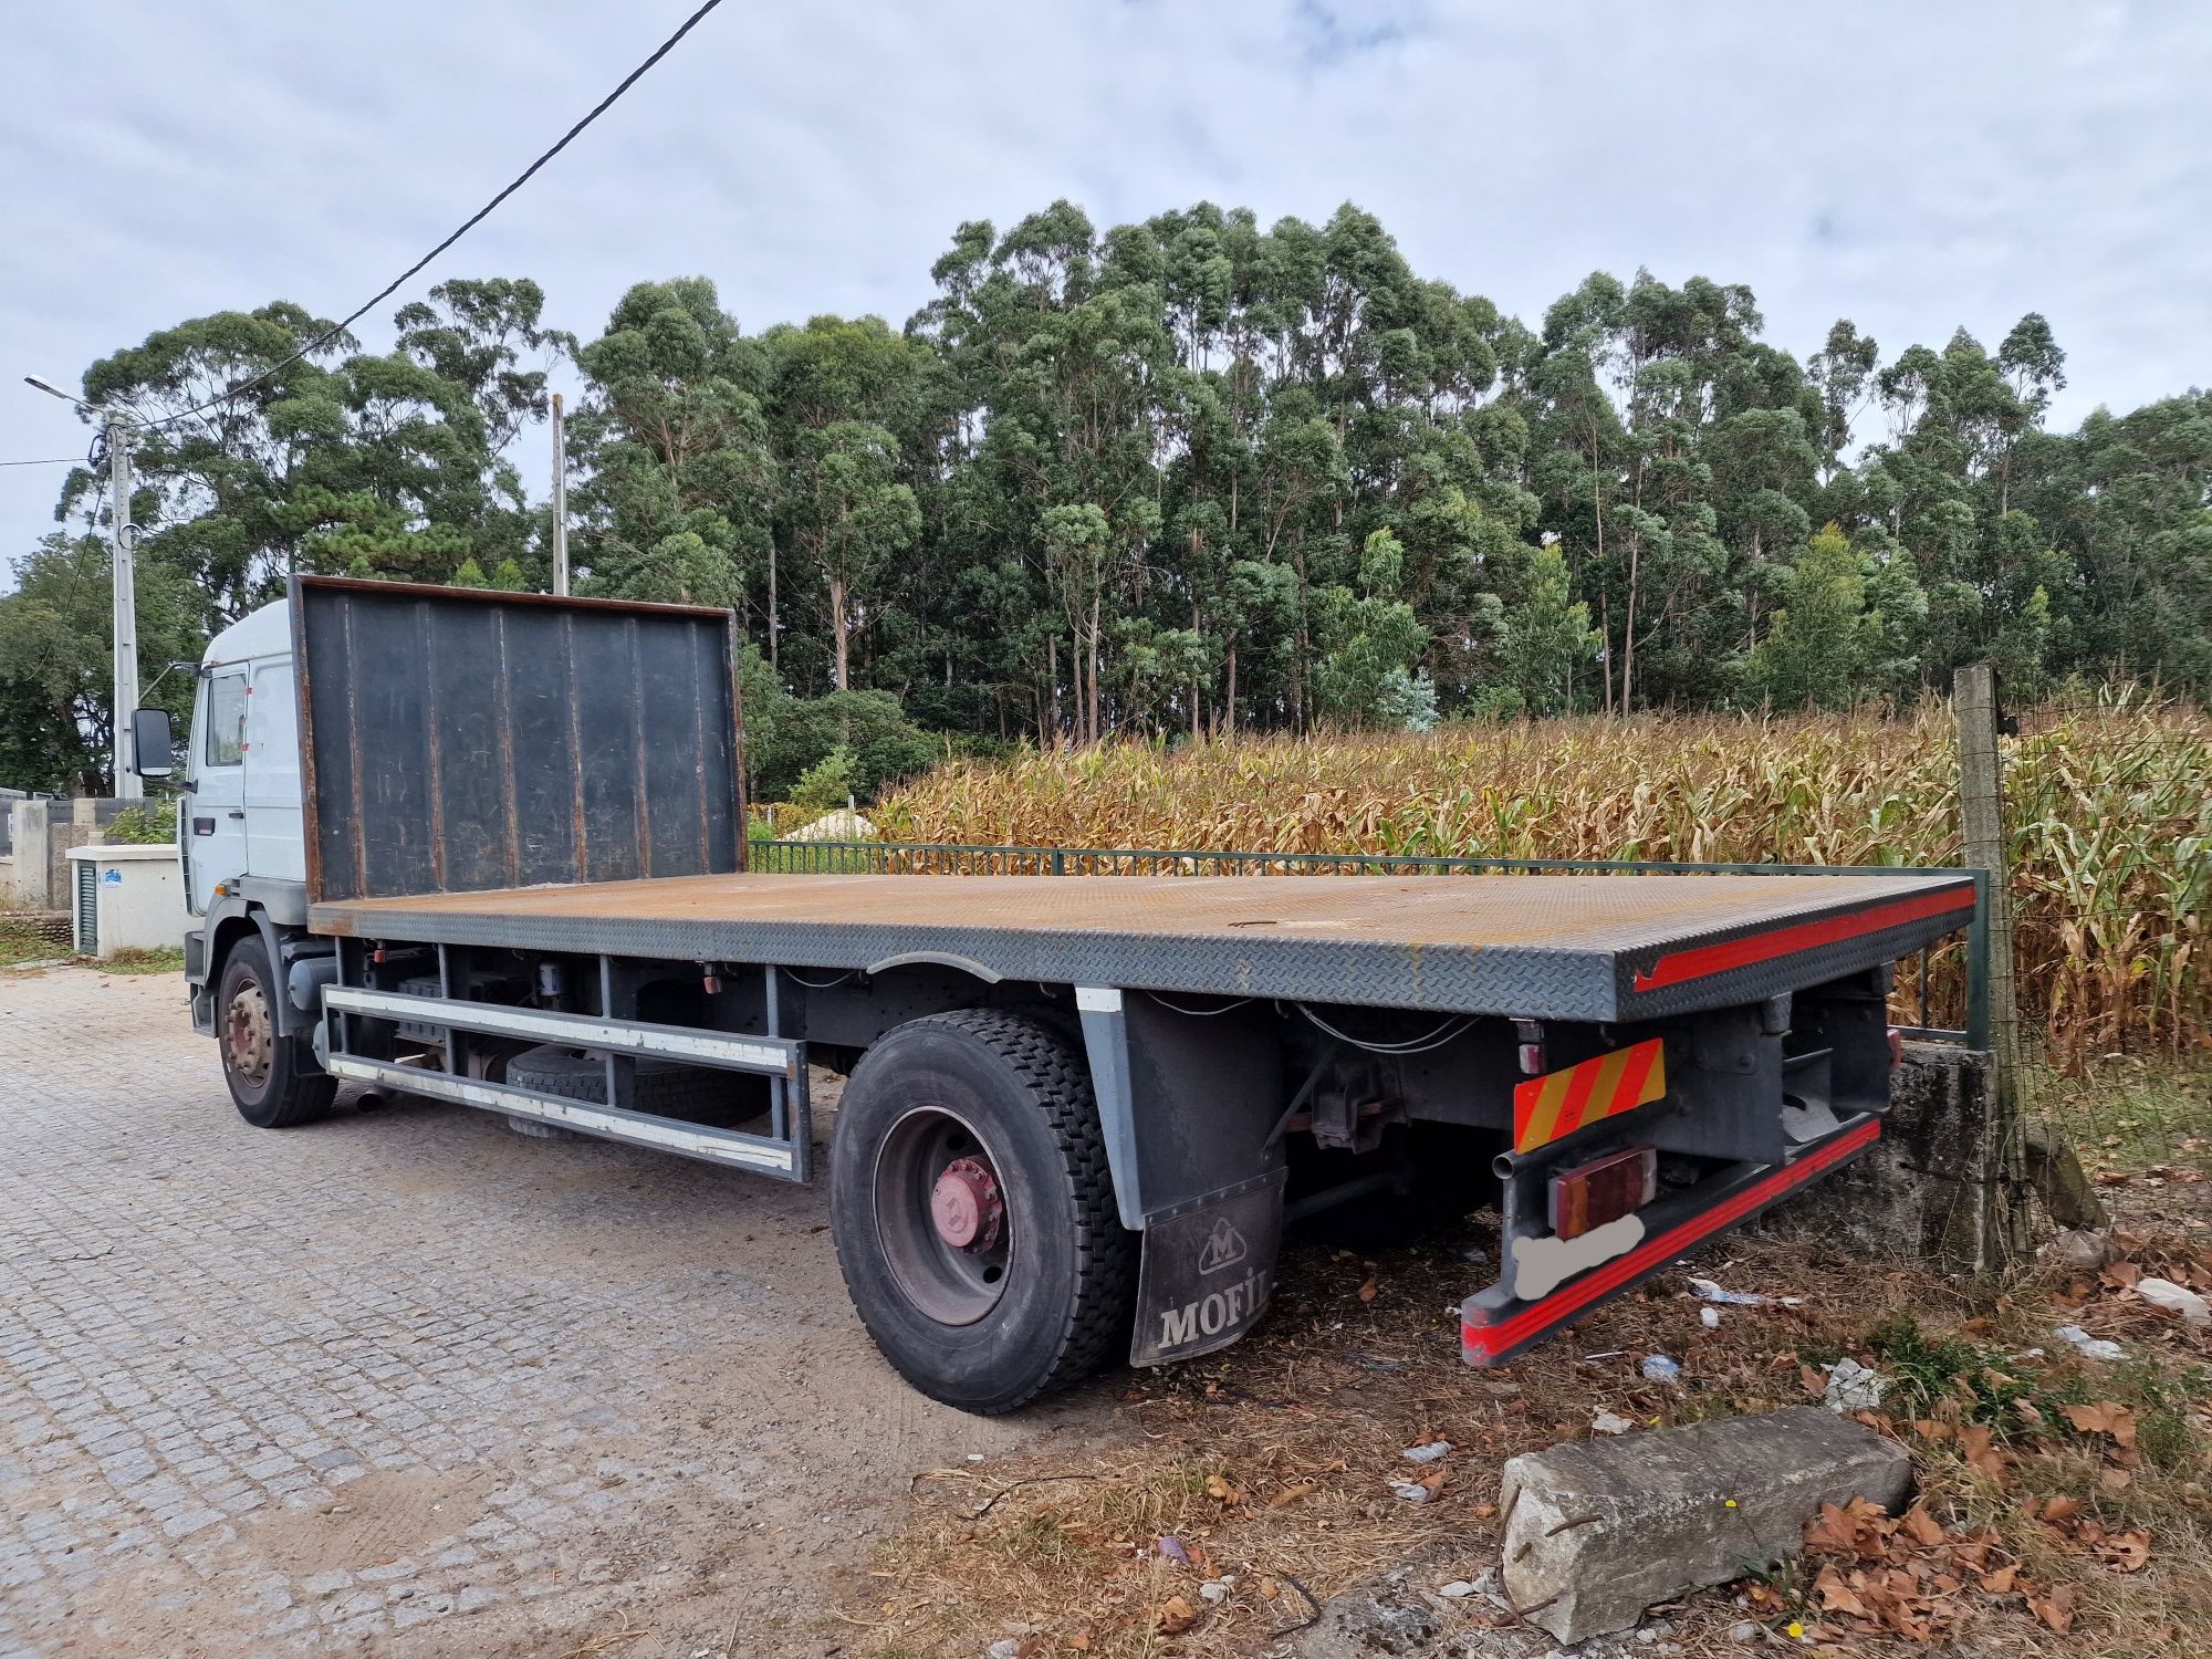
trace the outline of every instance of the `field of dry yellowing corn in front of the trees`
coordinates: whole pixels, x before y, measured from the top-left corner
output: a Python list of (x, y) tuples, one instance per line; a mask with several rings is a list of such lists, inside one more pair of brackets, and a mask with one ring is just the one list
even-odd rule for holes
[[(2022, 1018), (2068, 1068), (2212, 1042), (2212, 717), (2115, 690), (2006, 739)], [(953, 761), (891, 794), (896, 841), (1683, 863), (1958, 865), (1936, 699), (1801, 719), (1637, 717)], [(1958, 1024), (1955, 947), (1929, 969)], [(1900, 1006), (1916, 1004), (1900, 984)]]

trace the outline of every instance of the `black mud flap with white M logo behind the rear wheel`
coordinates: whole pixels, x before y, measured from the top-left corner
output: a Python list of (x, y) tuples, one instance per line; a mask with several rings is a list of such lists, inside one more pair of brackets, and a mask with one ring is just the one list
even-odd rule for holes
[(1130, 1365), (1190, 1360), (1252, 1329), (1274, 1294), (1287, 1179), (1287, 1170), (1270, 1170), (1152, 1217)]

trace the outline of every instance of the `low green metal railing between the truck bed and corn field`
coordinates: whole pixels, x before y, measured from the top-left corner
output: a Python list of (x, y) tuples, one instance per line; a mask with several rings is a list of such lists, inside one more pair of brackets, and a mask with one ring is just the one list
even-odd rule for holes
[(1920, 1024), (1909, 1035), (1989, 1046), (1989, 872), (1916, 865), (1674, 865), (1630, 858), (1431, 858), (1380, 852), (1177, 852), (1159, 847), (987, 847), (951, 841), (754, 841), (761, 874), (852, 876), (1973, 876), (1966, 1026), (1929, 1024), (1929, 951), (1916, 962)]

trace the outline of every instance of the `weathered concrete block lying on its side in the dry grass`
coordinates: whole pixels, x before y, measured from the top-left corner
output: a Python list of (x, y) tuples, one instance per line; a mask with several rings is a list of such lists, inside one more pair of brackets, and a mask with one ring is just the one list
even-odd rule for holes
[(1582, 1440), (1504, 1467), (1504, 1588), (1559, 1641), (1787, 1559), (1820, 1504), (1896, 1509), (1911, 1460), (1818, 1407)]

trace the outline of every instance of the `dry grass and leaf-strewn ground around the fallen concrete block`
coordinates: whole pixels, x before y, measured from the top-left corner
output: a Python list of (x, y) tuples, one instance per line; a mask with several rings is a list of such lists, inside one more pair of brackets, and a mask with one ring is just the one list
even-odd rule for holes
[[(1413, 1564), (1409, 1584), (1433, 1590), (1495, 1564), (1500, 1464), (1588, 1436), (1599, 1407), (1650, 1427), (1798, 1405), (1803, 1367), (1847, 1352), (1902, 1378), (1880, 1422), (1911, 1447), (1947, 1542), (1986, 1540), (1973, 1553), (2015, 1564), (2028, 1586), (1955, 1590), (1947, 1630), (1964, 1648), (1953, 1650), (2179, 1655), (2212, 1641), (2205, 1340), (2124, 1290), (2039, 1281), (1975, 1296), (1916, 1267), (1869, 1272), (1754, 1239), (1699, 1272), (1798, 1294), (1803, 1307), (1728, 1310), (1708, 1329), (1670, 1276), (1506, 1371), (1469, 1371), (1451, 1314), (1478, 1270), (1436, 1250), (1367, 1261), (1305, 1245), (1298, 1256), (1256, 1336), (1214, 1360), (1110, 1385), (1126, 1433), (1108, 1455), (920, 1478), (916, 1524), (878, 1559), (863, 1650), (973, 1659), (1015, 1637), (1024, 1659), (1276, 1652), (1316, 1601), (1378, 1571)], [(2143, 1256), (2185, 1270), (2174, 1252)], [(2212, 1259), (2192, 1261), (2212, 1272)], [(1363, 1301), (1369, 1279), (1376, 1296)], [(2086, 1365), (2051, 1338), (2066, 1318), (2121, 1336), (2132, 1358)], [(2028, 1354), (2037, 1347), (2046, 1352)], [(1661, 1349), (1683, 1360), (1686, 1385), (1639, 1376), (1641, 1356)], [(1958, 1367), (2006, 1387), (1962, 1385)], [(2048, 1420), (2031, 1427), (2015, 1400), (2031, 1411), (2039, 1400)], [(2135, 1449), (2062, 1420), (2064, 1402), (2093, 1400), (2128, 1402)], [(1997, 1425), (1980, 1464), (1944, 1427), (1960, 1422)], [(1422, 1438), (1453, 1449), (1436, 1464), (1436, 1498), (1411, 1504), (1389, 1482), (1422, 1473), (1402, 1455)], [(2077, 1500), (2090, 1533), (2046, 1524), (2051, 1498)], [(2150, 1548), (2137, 1571), (2088, 1542), (2135, 1531)], [(1190, 1564), (1164, 1555), (1161, 1537)], [(1812, 1566), (1694, 1597), (1670, 1613), (1674, 1641), (1741, 1652), (1725, 1630), (1747, 1617), (1739, 1597), (1750, 1597), (1750, 1615), (1776, 1630), (1801, 1619), (1820, 1650), (1863, 1650), (1867, 1635), (1820, 1624), (1834, 1615), (1814, 1595)], [(1208, 1582), (1225, 1588), (1219, 1601), (1201, 1590)], [(2066, 1641), (2031, 1613), (2031, 1590), (2073, 1606)], [(1451, 1630), (1513, 1621), (1482, 1597), (1438, 1606)]]

